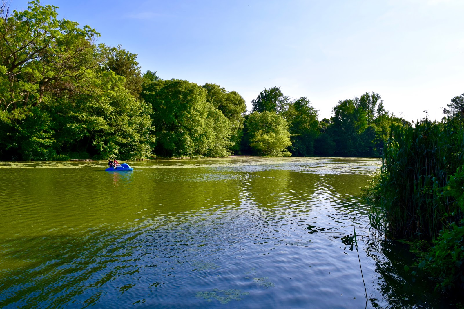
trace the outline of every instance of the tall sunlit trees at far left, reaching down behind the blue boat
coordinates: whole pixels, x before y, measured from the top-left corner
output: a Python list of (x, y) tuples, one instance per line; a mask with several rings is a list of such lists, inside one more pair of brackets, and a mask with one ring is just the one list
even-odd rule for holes
[(124, 88), (124, 77), (102, 70), (108, 49), (99, 36), (57, 19), (57, 7), (1, 7), (0, 156), (51, 160), (151, 153), (150, 107)]

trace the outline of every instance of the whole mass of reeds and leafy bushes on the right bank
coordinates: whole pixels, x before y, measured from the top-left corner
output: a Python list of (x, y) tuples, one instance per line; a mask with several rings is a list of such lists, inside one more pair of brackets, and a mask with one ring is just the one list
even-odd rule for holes
[(464, 94), (441, 122), (393, 126), (382, 166), (363, 189), (371, 224), (419, 253), (439, 290), (464, 289)]

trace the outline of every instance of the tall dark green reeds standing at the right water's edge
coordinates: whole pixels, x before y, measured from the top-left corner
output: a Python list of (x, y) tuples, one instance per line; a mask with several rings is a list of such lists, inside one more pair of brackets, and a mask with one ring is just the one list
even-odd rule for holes
[(433, 240), (451, 222), (463, 219), (447, 181), (464, 163), (462, 120), (393, 126), (385, 144), (380, 174), (365, 192), (377, 200), (373, 225), (394, 238)]

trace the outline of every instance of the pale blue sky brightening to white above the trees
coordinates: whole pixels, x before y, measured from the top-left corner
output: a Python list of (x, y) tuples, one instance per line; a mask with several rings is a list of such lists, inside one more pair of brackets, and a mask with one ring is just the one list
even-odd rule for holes
[(280, 86), (308, 97), (320, 119), (366, 91), (410, 121), (423, 110), (440, 119), (440, 107), (464, 92), (461, 0), (41, 3), (95, 28), (100, 43), (137, 53), (143, 71), (236, 90), (249, 109), (260, 90)]

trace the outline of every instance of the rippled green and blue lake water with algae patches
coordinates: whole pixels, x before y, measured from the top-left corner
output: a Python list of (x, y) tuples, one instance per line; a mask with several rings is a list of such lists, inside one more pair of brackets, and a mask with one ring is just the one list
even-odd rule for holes
[(369, 231), (378, 159), (129, 164), (0, 163), (0, 308), (448, 308)]

